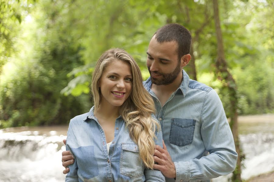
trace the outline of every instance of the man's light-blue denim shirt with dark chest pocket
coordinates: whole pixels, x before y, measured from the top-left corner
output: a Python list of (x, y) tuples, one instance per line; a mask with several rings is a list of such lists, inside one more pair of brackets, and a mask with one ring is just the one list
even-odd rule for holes
[(162, 107), (151, 90), (150, 77), (143, 84), (153, 97), (163, 140), (175, 164), (176, 182), (210, 181), (235, 169), (233, 136), (214, 89), (189, 79), (183, 70), (180, 87)]

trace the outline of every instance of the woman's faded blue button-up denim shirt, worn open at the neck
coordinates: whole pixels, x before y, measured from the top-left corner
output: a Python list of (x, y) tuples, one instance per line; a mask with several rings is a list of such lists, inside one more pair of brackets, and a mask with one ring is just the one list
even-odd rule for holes
[[(66, 149), (72, 152), (75, 162), (68, 166), (65, 181), (165, 181), (160, 171), (146, 170), (139, 158), (139, 147), (129, 137), (121, 116), (115, 121), (114, 139), (107, 152), (104, 130), (93, 108), (69, 123)], [(155, 134), (155, 144), (163, 146), (162, 132)]]

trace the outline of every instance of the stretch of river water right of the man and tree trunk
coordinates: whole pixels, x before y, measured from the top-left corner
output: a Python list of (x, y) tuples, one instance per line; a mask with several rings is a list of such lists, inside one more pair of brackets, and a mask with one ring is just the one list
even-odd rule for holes
[[(239, 139), (245, 155), (242, 179), (274, 171), (274, 114), (240, 116), (238, 120)], [(227, 182), (230, 176), (212, 181)]]

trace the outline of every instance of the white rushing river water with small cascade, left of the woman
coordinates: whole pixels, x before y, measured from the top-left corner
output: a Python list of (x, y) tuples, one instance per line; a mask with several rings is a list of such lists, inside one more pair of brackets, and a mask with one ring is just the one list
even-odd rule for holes
[(61, 153), (67, 127), (0, 130), (0, 182), (65, 181)]

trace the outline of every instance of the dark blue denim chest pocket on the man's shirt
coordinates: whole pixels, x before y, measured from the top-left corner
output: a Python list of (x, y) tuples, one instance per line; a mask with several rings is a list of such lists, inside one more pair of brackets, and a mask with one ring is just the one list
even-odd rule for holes
[(195, 120), (172, 118), (169, 142), (180, 147), (191, 144), (194, 129)]

